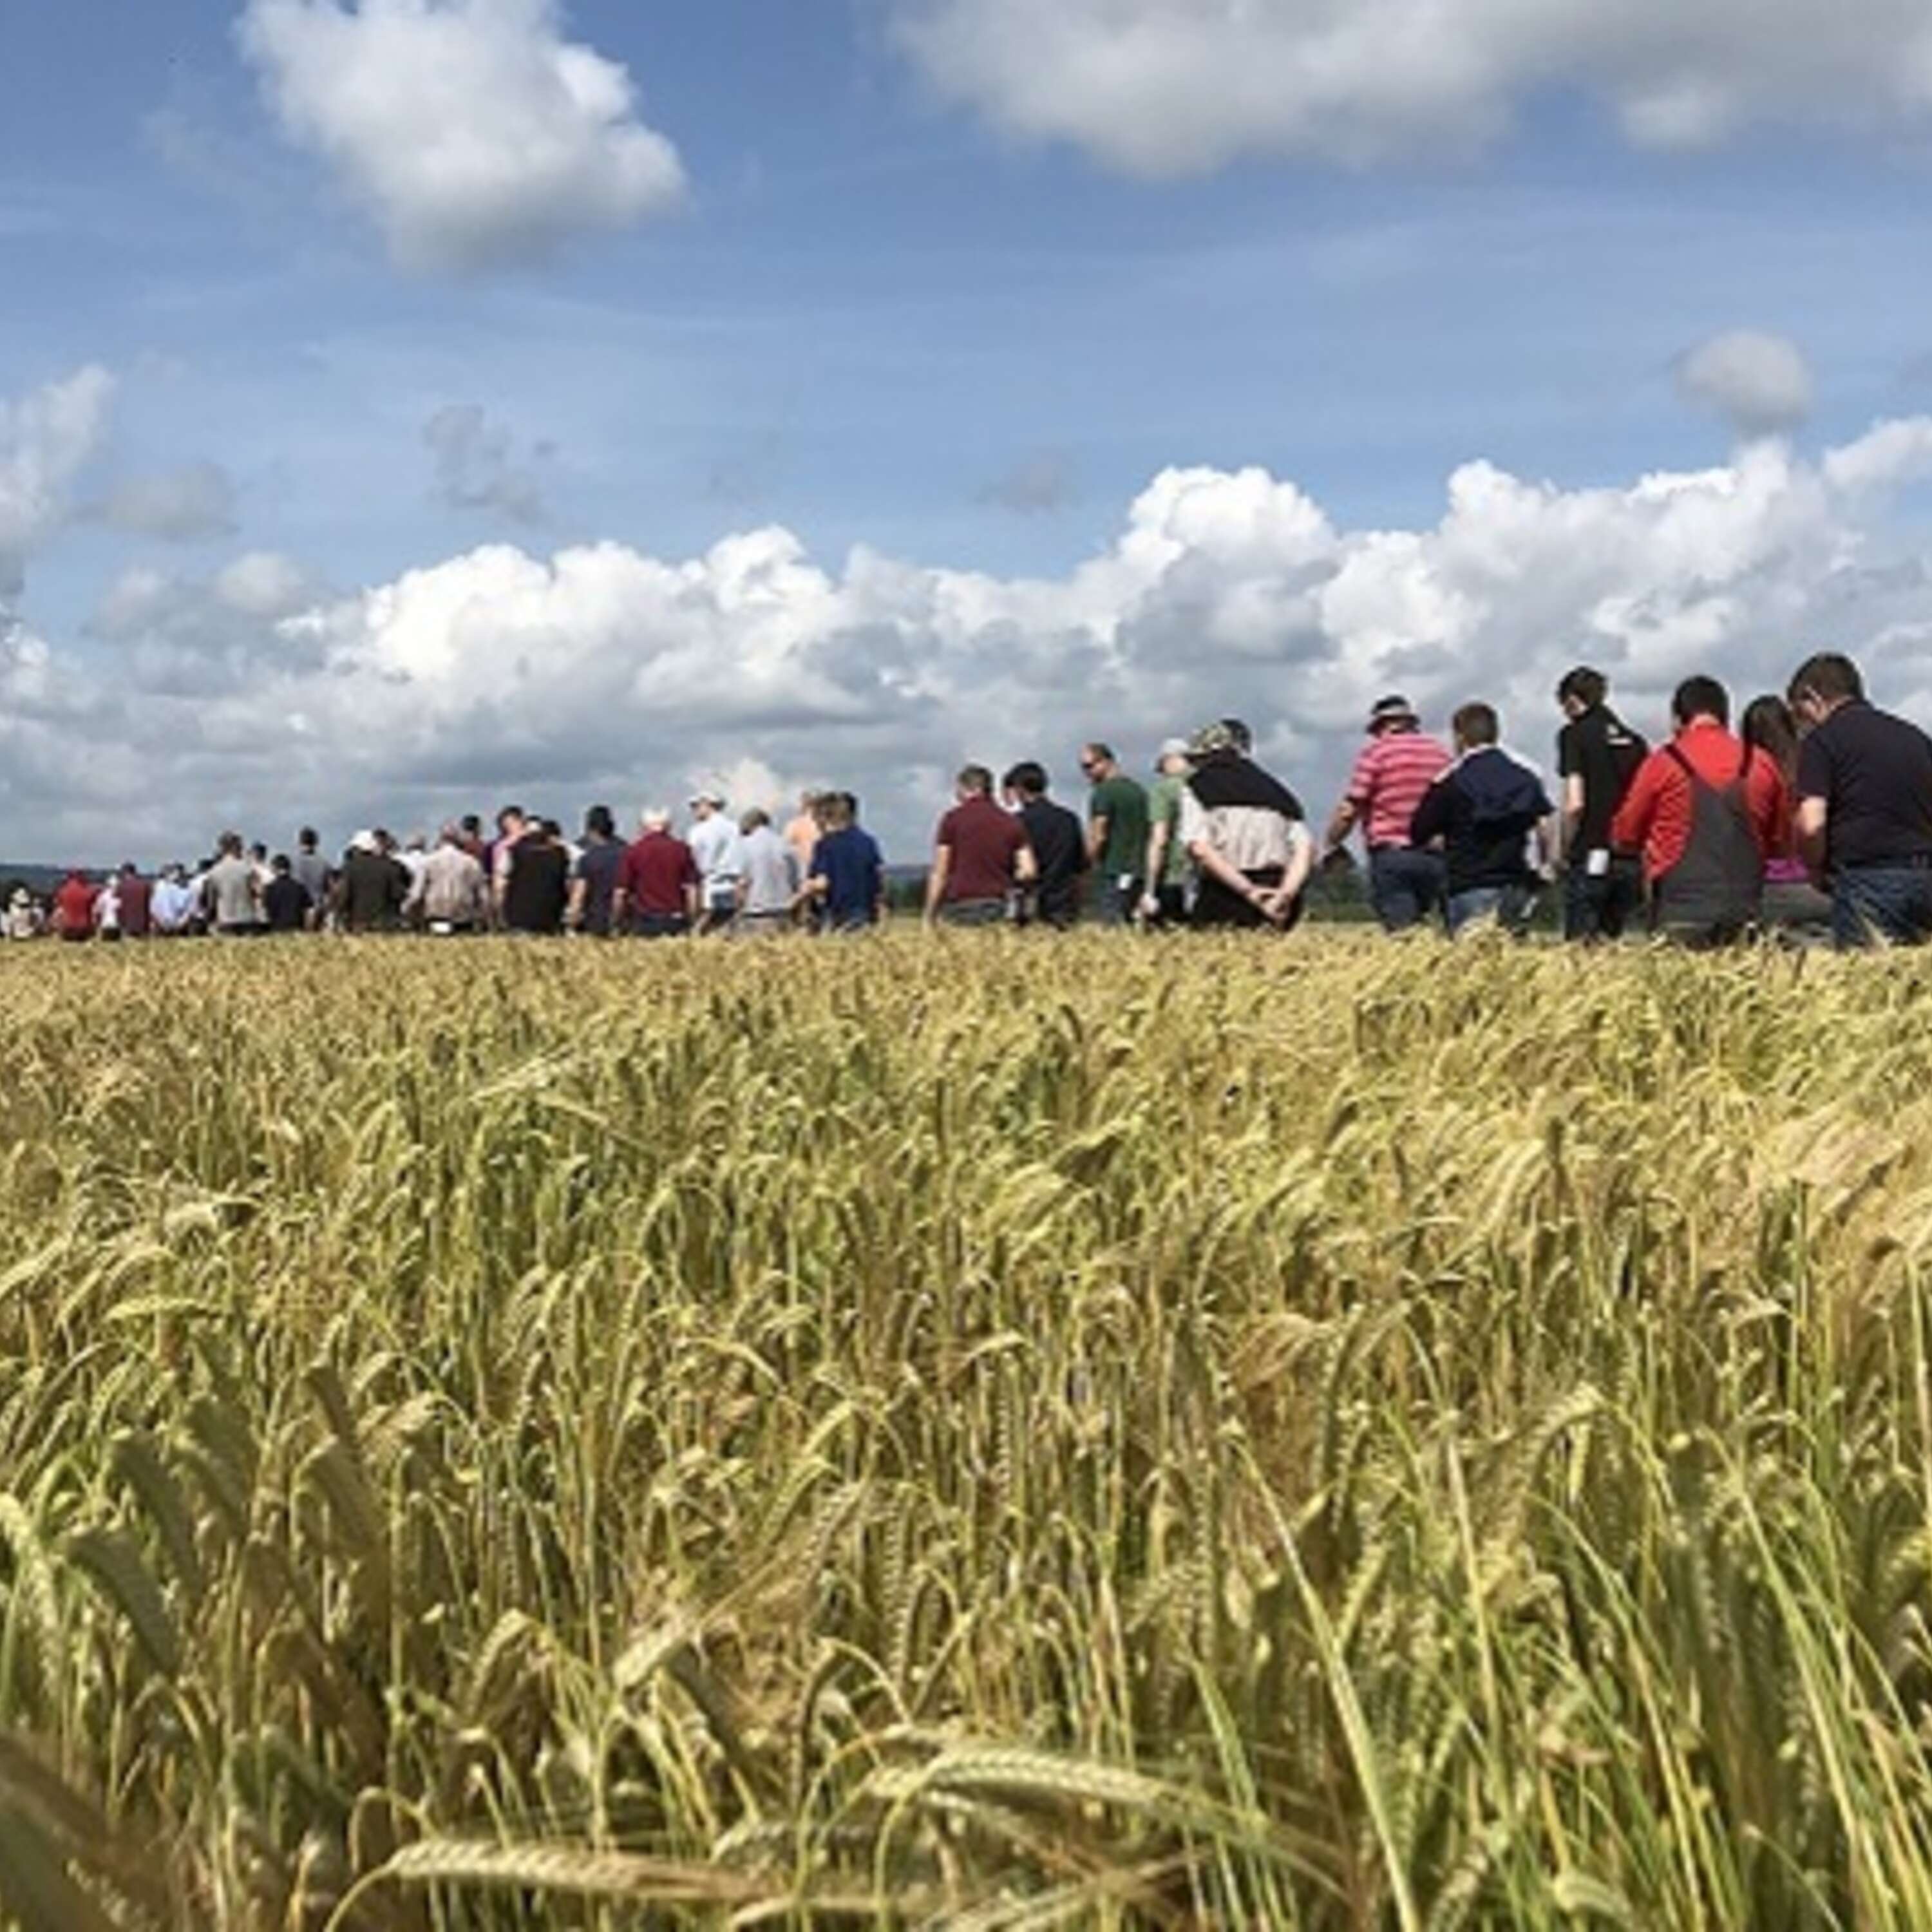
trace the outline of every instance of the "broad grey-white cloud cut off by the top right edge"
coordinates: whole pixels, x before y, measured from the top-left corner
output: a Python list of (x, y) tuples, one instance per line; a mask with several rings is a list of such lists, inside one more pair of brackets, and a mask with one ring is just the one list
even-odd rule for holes
[(1644, 147), (1932, 110), (1922, 0), (887, 0), (952, 99), (1136, 174), (1466, 149), (1540, 89)]

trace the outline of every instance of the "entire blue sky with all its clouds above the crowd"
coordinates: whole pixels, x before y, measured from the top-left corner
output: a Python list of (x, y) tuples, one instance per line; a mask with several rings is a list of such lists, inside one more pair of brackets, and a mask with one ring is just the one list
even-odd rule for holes
[(1922, 0), (0, 0), (0, 854), (1932, 723)]

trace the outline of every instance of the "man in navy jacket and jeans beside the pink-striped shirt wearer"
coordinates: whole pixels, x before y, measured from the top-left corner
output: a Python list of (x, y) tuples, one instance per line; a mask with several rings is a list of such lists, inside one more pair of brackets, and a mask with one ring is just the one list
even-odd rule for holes
[(1463, 705), (1451, 728), (1457, 761), (1428, 788), (1408, 833), (1418, 846), (1441, 840), (1451, 937), (1476, 923), (1520, 937), (1549, 866), (1555, 808), (1544, 781), (1501, 748), (1493, 705)]

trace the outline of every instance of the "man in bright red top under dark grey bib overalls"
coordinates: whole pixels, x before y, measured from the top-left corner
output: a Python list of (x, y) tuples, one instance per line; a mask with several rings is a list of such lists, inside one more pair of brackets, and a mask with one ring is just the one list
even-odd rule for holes
[(1716, 678), (1687, 678), (1671, 699), (1677, 736), (1652, 752), (1609, 827), (1642, 852), (1652, 929), (1685, 945), (1729, 945), (1756, 923), (1764, 858), (1789, 813), (1776, 761), (1729, 730)]

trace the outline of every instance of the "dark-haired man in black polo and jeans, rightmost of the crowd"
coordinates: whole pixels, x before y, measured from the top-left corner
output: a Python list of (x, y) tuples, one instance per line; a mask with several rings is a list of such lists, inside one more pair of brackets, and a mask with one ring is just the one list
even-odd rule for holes
[(1797, 846), (1832, 893), (1839, 947), (1932, 939), (1932, 738), (1880, 711), (1835, 651), (1791, 678), (1799, 750)]

